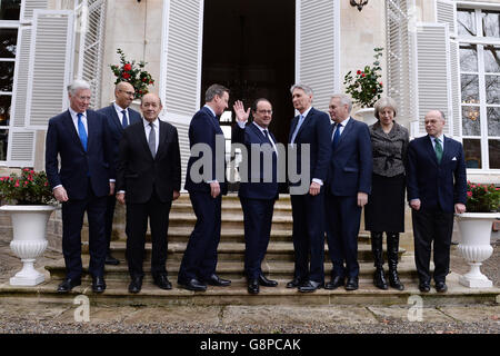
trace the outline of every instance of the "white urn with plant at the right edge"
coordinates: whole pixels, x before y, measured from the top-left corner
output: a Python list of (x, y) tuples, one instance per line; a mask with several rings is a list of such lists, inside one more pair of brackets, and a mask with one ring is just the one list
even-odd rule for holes
[(458, 249), (470, 266), (469, 273), (460, 276), (459, 283), (469, 288), (492, 287), (480, 267), (493, 253), (490, 245), (491, 226), (500, 218), (500, 190), (494, 185), (467, 182), (467, 212), (457, 215), (460, 230)]

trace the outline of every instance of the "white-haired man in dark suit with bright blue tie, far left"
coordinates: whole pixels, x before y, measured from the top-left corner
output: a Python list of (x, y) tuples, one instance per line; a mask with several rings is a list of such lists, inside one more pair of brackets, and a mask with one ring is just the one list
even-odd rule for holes
[(80, 234), (86, 211), (92, 290), (102, 293), (106, 289), (106, 200), (114, 191), (112, 148), (106, 118), (88, 109), (90, 85), (74, 81), (68, 92), (70, 108), (49, 120), (46, 139), (47, 176), (56, 199), (62, 202), (62, 253), (67, 276), (58, 293), (68, 293), (81, 284)]

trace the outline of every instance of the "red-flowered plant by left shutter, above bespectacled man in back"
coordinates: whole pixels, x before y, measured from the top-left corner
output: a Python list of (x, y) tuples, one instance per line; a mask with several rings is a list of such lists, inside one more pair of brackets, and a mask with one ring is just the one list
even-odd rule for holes
[(118, 49), (117, 53), (120, 55), (120, 65), (110, 66), (117, 78), (114, 85), (118, 85), (121, 81), (130, 82), (133, 89), (136, 89), (137, 100), (133, 101), (134, 109), (139, 109), (139, 99), (149, 92), (148, 87), (154, 85), (154, 80), (148, 71), (143, 70), (146, 65), (148, 65), (147, 62), (140, 61), (139, 63), (136, 63), (136, 60), (127, 60), (127, 57), (121, 49)]

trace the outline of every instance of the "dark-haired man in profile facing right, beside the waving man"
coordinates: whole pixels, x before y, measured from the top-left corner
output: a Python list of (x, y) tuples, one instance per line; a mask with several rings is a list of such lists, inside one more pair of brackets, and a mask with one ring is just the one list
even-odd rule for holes
[[(220, 85), (210, 86), (206, 92), (206, 105), (194, 113), (189, 126), (192, 156), (188, 161), (184, 188), (189, 191), (197, 222), (189, 237), (178, 277), (179, 286), (188, 290), (204, 291), (207, 284), (221, 287), (231, 284), (216, 274), (222, 195), (228, 192), (224, 139), (217, 117), (228, 108), (228, 101), (229, 89)], [(198, 148), (202, 151), (196, 157), (193, 152)], [(209, 164), (197, 170), (199, 161)]]

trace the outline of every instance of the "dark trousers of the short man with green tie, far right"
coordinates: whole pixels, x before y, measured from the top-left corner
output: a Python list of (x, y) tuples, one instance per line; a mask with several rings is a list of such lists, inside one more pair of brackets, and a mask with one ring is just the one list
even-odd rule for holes
[(450, 270), (450, 246), (453, 212), (411, 210), (413, 222), (414, 261), (420, 281), (430, 281), (431, 245), (433, 245), (434, 281), (446, 281)]

